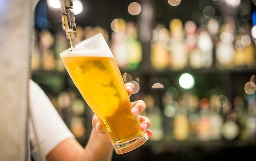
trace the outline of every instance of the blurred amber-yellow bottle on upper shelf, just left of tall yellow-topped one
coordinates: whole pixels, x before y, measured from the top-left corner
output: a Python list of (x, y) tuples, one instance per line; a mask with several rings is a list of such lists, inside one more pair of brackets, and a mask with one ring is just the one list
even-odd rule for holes
[(163, 70), (170, 64), (170, 55), (164, 46), (164, 41), (170, 37), (168, 30), (163, 25), (158, 25), (153, 32), (150, 50), (152, 66), (157, 70)]

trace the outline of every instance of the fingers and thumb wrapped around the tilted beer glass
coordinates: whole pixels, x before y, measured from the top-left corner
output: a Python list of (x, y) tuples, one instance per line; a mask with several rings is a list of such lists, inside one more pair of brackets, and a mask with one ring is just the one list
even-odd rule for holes
[[(131, 96), (135, 86), (132, 83), (126, 83), (126, 90), (128, 92), (129, 97)], [(131, 103), (132, 109), (131, 114), (133, 116), (138, 116), (138, 119), (140, 121), (140, 130), (146, 131), (148, 137), (151, 137), (153, 135), (153, 132), (149, 130), (151, 123), (150, 120), (145, 116), (140, 116), (141, 112), (143, 112), (146, 108), (146, 104), (143, 100), (137, 100)], [(98, 131), (98, 133), (101, 135), (101, 138), (105, 141), (109, 142), (107, 133), (103, 129), (101, 122), (99, 121), (98, 117), (94, 114), (92, 117), (92, 126)]]

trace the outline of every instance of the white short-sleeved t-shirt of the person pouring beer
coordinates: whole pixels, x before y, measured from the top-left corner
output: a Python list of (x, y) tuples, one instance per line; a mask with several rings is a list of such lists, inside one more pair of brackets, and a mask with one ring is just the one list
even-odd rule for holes
[[(68, 138), (74, 138), (74, 135), (67, 128), (42, 88), (31, 79), (29, 80), (29, 99), (30, 113), (33, 117), (28, 120), (31, 153), (33, 156), (39, 156), (39, 142), (41, 152), (46, 157), (58, 144)], [(34, 121), (35, 129), (32, 120)], [(37, 134), (38, 141), (35, 134)]]

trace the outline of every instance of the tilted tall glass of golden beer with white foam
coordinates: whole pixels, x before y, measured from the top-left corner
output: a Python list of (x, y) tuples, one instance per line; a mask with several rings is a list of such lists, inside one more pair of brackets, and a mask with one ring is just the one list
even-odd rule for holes
[(99, 118), (117, 154), (134, 150), (148, 140), (116, 61), (102, 34), (94, 35), (60, 53), (75, 86)]

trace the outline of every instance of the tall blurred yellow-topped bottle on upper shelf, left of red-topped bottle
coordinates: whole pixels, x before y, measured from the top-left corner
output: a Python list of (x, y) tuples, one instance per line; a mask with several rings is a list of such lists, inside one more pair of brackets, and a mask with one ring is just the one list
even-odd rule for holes
[(188, 64), (188, 51), (184, 42), (183, 24), (180, 19), (172, 19), (169, 23), (170, 35), (172, 41), (169, 46), (171, 68), (175, 70), (181, 70)]

